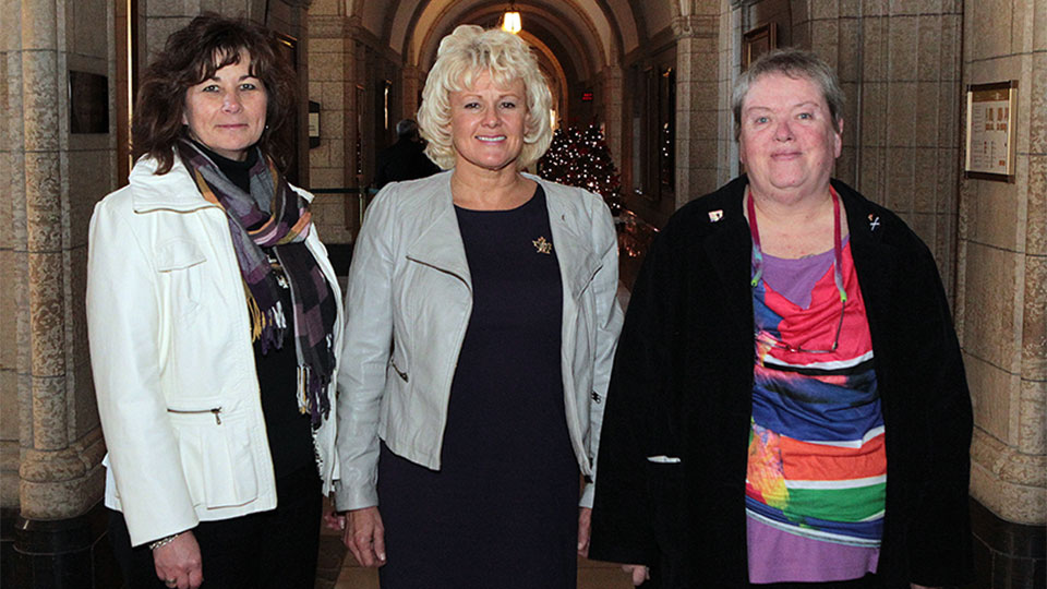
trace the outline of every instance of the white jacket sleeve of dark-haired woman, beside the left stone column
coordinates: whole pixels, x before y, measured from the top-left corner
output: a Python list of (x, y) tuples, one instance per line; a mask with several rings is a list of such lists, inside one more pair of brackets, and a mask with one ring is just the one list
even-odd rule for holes
[[(127, 193), (98, 203), (87, 250), (87, 339), (108, 468), (131, 544), (196, 526), (167, 418), (156, 268), (132, 229)], [(158, 508), (161, 507), (161, 508)]]

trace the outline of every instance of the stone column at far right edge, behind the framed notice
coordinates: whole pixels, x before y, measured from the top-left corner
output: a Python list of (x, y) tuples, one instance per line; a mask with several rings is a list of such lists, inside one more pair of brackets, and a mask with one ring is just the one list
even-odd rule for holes
[(978, 575), (1031, 587), (1047, 524), (1047, 0), (963, 10), (955, 92), (1016, 80), (1019, 93), (1013, 182), (963, 179), (960, 191), (956, 320), (975, 409)]

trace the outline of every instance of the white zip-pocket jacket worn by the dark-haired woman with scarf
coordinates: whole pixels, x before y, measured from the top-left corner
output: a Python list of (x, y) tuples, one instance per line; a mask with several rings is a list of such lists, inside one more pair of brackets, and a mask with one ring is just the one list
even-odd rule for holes
[[(91, 365), (109, 450), (106, 506), (123, 513), (133, 545), (276, 507), (228, 220), (178, 158), (164, 176), (155, 169), (140, 160), (130, 185), (95, 206), (87, 256)], [(338, 299), (337, 351), (338, 281), (315, 227), (305, 244)], [(334, 405), (314, 434), (325, 493), (338, 468)]]

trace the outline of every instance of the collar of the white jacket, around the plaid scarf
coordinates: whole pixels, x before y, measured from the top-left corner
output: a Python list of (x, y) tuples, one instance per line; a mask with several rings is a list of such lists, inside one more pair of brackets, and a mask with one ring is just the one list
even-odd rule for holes
[[(182, 164), (182, 158), (174, 155), (174, 164), (170, 171), (165, 175), (157, 175), (156, 170), (159, 163), (148, 156), (142, 156), (134, 164), (131, 173), (128, 176), (128, 182), (131, 184), (131, 202), (135, 213), (148, 213), (152, 211), (176, 211), (179, 213), (189, 213), (200, 208), (216, 206), (204, 200), (196, 188), (196, 182), (189, 173), (189, 169)], [(312, 201), (313, 195), (298, 187), (291, 189), (304, 197)]]

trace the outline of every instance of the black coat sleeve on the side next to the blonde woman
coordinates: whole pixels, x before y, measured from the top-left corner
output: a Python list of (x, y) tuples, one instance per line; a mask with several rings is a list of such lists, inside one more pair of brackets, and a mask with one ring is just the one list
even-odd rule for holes
[(647, 456), (671, 372), (667, 293), (678, 291), (665, 237), (655, 238), (637, 276), (609, 384), (590, 548), (602, 561), (650, 565), (658, 556)]

